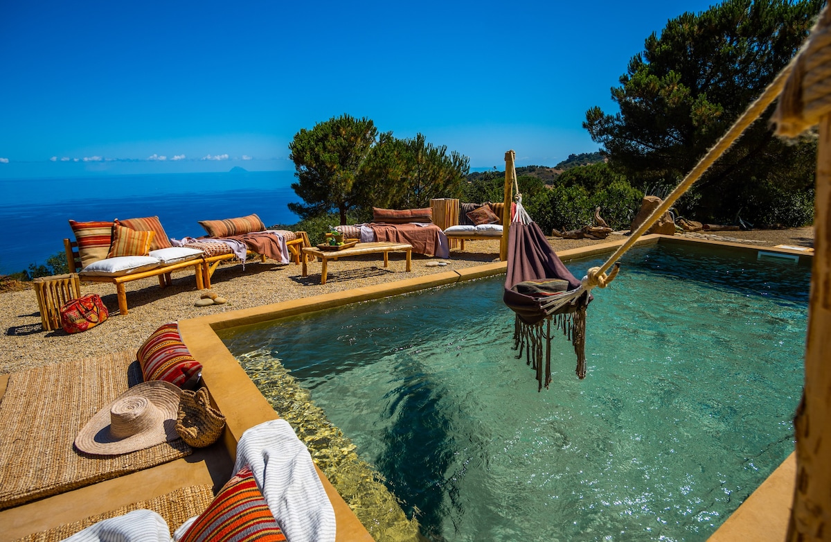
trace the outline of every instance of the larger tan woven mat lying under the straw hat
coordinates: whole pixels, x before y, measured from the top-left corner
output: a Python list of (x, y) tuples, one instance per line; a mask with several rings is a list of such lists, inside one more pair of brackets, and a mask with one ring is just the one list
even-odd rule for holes
[(138, 365), (135, 352), (116, 352), (10, 375), (0, 402), (0, 510), (190, 455), (181, 439), (121, 456), (74, 448), (86, 421), (140, 382)]

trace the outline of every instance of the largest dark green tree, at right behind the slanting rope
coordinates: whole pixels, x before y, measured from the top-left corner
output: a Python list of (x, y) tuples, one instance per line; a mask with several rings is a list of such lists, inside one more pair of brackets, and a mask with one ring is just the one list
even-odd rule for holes
[[(612, 88), (620, 112), (593, 107), (583, 127), (603, 146), (612, 170), (632, 185), (676, 185), (794, 56), (823, 4), (727, 0), (672, 19), (660, 37), (647, 38), (621, 76), (622, 86)], [(766, 186), (810, 190), (813, 175), (804, 160), (813, 160), (816, 144), (785, 145), (775, 138), (768, 125), (772, 111), (693, 187), (698, 194), (690, 201), (702, 219), (735, 219), (742, 199)], [(773, 193), (765, 199), (774, 200)]]

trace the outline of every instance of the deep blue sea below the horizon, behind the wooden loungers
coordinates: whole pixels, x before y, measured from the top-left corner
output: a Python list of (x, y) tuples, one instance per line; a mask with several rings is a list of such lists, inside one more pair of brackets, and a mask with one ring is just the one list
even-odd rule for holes
[(0, 180), (0, 274), (46, 264), (75, 239), (69, 220), (158, 216), (169, 237), (204, 235), (199, 220), (256, 213), (266, 226), (296, 224), (288, 204), (300, 202), (293, 170), (89, 175), (64, 179)]

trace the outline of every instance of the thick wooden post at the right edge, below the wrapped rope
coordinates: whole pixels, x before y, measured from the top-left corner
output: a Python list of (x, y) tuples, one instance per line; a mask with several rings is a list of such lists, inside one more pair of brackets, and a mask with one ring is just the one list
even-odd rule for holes
[(789, 542), (831, 540), (831, 115), (819, 123), (805, 387), (796, 420)]

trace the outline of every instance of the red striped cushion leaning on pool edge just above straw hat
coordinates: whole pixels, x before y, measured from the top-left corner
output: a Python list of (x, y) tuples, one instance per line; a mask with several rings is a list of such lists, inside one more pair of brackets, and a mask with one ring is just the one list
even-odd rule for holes
[(179, 335), (179, 324), (165, 323), (150, 335), (136, 355), (145, 382), (164, 380), (178, 387), (194, 387), (202, 364), (190, 355)]

